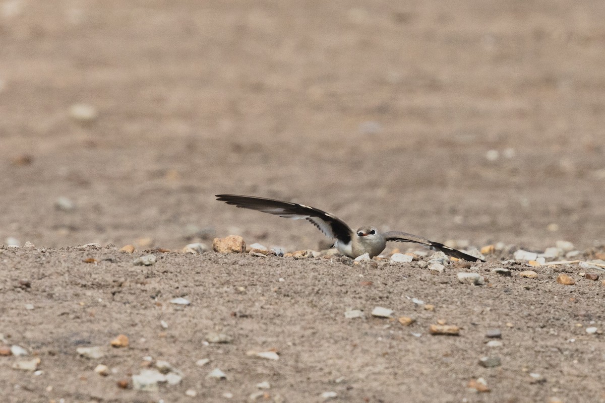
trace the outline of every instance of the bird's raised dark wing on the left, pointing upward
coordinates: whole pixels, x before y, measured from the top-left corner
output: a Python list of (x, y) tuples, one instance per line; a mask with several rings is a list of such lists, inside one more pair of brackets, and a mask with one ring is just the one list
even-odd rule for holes
[(309, 207), (304, 204), (284, 202), (280, 200), (257, 198), (254, 196), (241, 195), (217, 195), (218, 201), (235, 205), (241, 208), (250, 208), (250, 210), (262, 211), (263, 213), (273, 214), (290, 219), (306, 219), (312, 222), (315, 227), (330, 238), (336, 238), (344, 243), (351, 242), (352, 230), (347, 224), (330, 213)]

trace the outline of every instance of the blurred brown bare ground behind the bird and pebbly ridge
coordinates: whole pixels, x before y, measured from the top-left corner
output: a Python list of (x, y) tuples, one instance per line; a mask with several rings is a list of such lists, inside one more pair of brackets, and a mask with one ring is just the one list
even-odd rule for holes
[(0, 243), (605, 240), (603, 1), (0, 2)]

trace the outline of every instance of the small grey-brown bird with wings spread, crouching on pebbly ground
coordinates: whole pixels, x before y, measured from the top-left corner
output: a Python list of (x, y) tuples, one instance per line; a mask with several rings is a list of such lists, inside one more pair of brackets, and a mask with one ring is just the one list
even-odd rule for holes
[(333, 247), (352, 259), (367, 253), (370, 257), (378, 256), (384, 251), (388, 241), (393, 242), (415, 242), (425, 245), (434, 250), (442, 251), (448, 256), (457, 259), (476, 262), (485, 260), (479, 257), (471, 256), (462, 251), (450, 248), (443, 243), (434, 242), (426, 238), (408, 234), (401, 231), (388, 231), (381, 233), (378, 228), (366, 226), (359, 227), (353, 231), (344, 221), (334, 214), (327, 213), (319, 208), (310, 207), (304, 204), (286, 202), (275, 199), (266, 199), (255, 196), (242, 195), (216, 195), (218, 201), (226, 204), (235, 205), (240, 208), (249, 208), (250, 210), (262, 211), (263, 213), (273, 214), (289, 219), (305, 219), (312, 222), (325, 236), (336, 239)]

